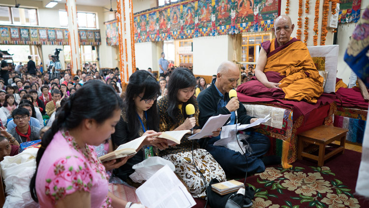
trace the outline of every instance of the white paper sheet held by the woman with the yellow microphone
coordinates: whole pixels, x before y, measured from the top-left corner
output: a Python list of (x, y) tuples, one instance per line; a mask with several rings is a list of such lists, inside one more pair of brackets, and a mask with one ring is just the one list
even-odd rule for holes
[(204, 127), (199, 133), (195, 133), (192, 136), (189, 136), (188, 139), (201, 139), (204, 136), (211, 136), (213, 135), (213, 131), (216, 131), (216, 129), (221, 128), (225, 122), (229, 119), (231, 114), (228, 115), (217, 115), (212, 116), (208, 119), (208, 121), (205, 123)]

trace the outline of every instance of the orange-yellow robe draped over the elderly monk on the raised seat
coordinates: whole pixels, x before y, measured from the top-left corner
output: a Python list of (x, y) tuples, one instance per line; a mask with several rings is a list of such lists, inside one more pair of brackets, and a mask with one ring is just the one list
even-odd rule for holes
[[(275, 50), (275, 41), (271, 41), (270, 52)], [(307, 47), (302, 41), (289, 44), (267, 59), (264, 72), (274, 71), (286, 76), (279, 83), (285, 99), (316, 103), (323, 93), (323, 77), (315, 68)], [(308, 74), (308, 76), (307, 76)]]

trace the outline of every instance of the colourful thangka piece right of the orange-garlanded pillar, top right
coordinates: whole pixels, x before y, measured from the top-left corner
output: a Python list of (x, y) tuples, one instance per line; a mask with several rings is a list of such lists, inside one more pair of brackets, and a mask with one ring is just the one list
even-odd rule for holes
[(338, 23), (358, 22), (361, 0), (339, 0)]

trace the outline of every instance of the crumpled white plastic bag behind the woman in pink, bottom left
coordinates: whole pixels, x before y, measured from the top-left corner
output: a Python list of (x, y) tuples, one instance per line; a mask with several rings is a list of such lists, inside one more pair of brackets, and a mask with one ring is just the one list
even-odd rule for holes
[(29, 148), (16, 156), (6, 156), (0, 162), (5, 184), (4, 208), (38, 208), (30, 193), (31, 178), (36, 170), (37, 148)]

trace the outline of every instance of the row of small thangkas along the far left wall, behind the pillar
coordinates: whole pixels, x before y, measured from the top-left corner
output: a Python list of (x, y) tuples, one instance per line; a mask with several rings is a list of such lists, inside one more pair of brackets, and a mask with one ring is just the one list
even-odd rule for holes
[[(82, 30), (89, 37), (81, 45), (100, 45), (99, 30)], [(81, 30), (79, 31), (81, 32)], [(96, 35), (97, 34), (97, 35)], [(96, 36), (98, 36), (96, 38)], [(0, 26), (0, 44), (69, 45), (68, 30), (61, 28)]]

